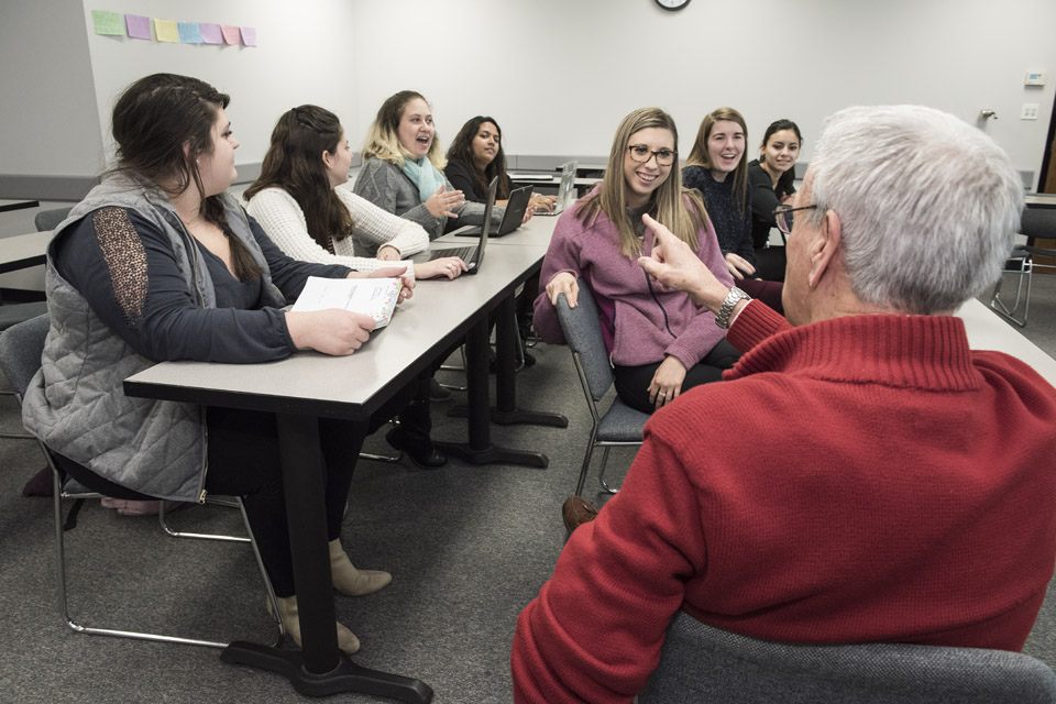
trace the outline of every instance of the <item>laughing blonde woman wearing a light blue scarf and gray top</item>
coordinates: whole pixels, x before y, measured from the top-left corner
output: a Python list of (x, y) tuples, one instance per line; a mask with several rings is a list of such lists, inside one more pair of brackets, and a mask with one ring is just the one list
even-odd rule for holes
[[(484, 206), (466, 202), (464, 194), (444, 178), (447, 165), (437, 140), (432, 108), (419, 92), (402, 90), (377, 110), (363, 145), (363, 168), (352, 193), (375, 206), (417, 222), (429, 239), (442, 235), (450, 219), (458, 224), (481, 224)], [(492, 210), (495, 226), (504, 209)], [(355, 253), (373, 256), (371, 242), (355, 238)]]

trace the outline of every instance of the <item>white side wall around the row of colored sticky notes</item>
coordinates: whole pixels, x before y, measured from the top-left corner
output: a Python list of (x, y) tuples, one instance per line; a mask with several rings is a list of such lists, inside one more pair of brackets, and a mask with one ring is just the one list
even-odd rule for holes
[[(106, 9), (177, 21), (256, 28), (258, 46), (163, 44), (88, 34), (98, 95), (98, 121), (109, 151), (113, 101), (133, 80), (166, 72), (196, 76), (231, 96), (228, 117), (241, 146), (235, 164), (264, 157), (278, 116), (306, 102), (340, 118), (356, 111), (356, 91), (344, 58), (354, 24), (349, 0), (108, 0)], [(91, 10), (82, 21), (91, 31)]]

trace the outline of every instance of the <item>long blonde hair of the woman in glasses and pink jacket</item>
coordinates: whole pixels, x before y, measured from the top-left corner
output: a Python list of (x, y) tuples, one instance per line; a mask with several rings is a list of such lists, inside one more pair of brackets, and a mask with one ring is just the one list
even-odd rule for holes
[[(675, 157), (678, 157), (679, 131), (671, 116), (660, 108), (635, 110), (624, 118), (616, 130), (616, 136), (613, 138), (608, 168), (601, 190), (590, 196), (576, 212), (576, 217), (584, 223), (592, 223), (598, 211), (604, 211), (619, 232), (619, 253), (624, 256), (641, 254), (641, 242), (627, 217), (627, 179), (624, 176), (624, 160), (627, 157), (631, 135), (649, 128), (671, 132), (674, 138)], [(689, 201), (689, 208), (686, 201)], [(678, 163), (671, 165), (667, 179), (652, 193), (648, 212), (671, 230), (674, 237), (689, 244), (693, 251), (697, 250), (700, 243), (696, 233), (707, 227), (707, 212), (704, 210), (704, 201), (701, 200), (700, 194), (682, 188), (682, 172)]]

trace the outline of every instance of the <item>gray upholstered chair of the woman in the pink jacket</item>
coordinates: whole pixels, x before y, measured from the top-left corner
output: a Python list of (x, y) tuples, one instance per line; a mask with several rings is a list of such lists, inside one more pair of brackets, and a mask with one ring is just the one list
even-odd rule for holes
[(558, 321), (572, 351), (572, 360), (575, 362), (575, 371), (579, 372), (580, 384), (583, 386), (583, 394), (593, 421), (591, 438), (583, 457), (583, 466), (580, 470), (580, 480), (575, 485), (575, 495), (583, 494), (594, 448), (603, 448), (602, 469), (597, 475), (602, 488), (615, 494), (617, 490), (610, 487), (605, 481), (608, 451), (614, 447), (640, 446), (642, 428), (649, 420), (649, 415), (635, 410), (618, 397), (613, 399), (605, 413), (598, 408), (598, 402), (613, 386), (613, 367), (602, 338), (602, 322), (598, 318), (597, 304), (594, 302), (594, 294), (582, 278), (576, 283), (580, 285), (576, 307), (570, 308), (564, 296), (558, 297), (557, 306)]

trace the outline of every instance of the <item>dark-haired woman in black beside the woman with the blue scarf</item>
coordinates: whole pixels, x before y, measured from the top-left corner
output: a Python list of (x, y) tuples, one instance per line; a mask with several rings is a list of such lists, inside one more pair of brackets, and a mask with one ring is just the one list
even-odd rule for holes
[[(472, 202), (484, 202), (487, 185), (498, 178), (495, 202), (506, 205), (514, 184), (506, 173), (503, 130), (495, 118), (476, 116), (462, 125), (448, 148), (443, 174)], [(557, 200), (556, 196), (532, 194), (529, 208), (553, 210)]]

